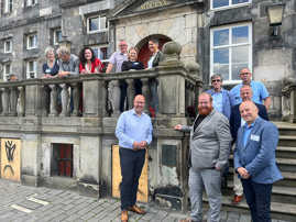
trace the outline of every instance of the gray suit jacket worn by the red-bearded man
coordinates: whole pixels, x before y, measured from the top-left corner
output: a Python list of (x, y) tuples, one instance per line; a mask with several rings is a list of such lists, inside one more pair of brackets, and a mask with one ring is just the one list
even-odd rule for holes
[(195, 131), (193, 126), (185, 125), (182, 131), (190, 131), (190, 160), (194, 170), (223, 168), (227, 165), (232, 138), (228, 119), (223, 114), (212, 110)]

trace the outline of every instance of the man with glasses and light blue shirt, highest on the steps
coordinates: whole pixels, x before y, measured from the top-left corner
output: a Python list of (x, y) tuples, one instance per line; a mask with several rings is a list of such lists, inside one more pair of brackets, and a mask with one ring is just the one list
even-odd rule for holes
[(240, 78), (242, 82), (230, 90), (231, 106), (233, 107), (242, 102), (242, 99), (240, 97), (240, 89), (242, 85), (249, 85), (251, 86), (253, 91), (252, 101), (255, 103), (264, 104), (266, 107), (266, 110), (268, 110), (271, 106), (271, 97), (267, 89), (262, 82), (254, 81), (251, 79), (251, 77), (252, 74), (249, 68), (242, 68), (240, 70)]

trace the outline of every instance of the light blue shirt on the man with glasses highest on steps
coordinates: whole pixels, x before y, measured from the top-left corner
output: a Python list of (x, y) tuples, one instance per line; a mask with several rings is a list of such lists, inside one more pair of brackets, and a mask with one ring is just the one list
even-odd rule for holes
[[(240, 92), (241, 87), (242, 87), (242, 84), (239, 84), (238, 86), (233, 87), (230, 90), (230, 101), (231, 101), (232, 107), (242, 102), (241, 92)], [(267, 89), (260, 81), (252, 80), (251, 88), (253, 91), (252, 101), (255, 103), (262, 104), (263, 100), (266, 99), (267, 97), (270, 97)]]

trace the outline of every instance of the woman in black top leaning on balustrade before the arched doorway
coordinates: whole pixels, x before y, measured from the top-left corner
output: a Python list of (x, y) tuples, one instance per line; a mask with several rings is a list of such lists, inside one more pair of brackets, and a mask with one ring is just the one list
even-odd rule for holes
[[(144, 69), (143, 63), (138, 60), (138, 51), (134, 47), (131, 47), (129, 49), (129, 55), (128, 55), (129, 60), (124, 60), (121, 66), (122, 71), (128, 71), (128, 70), (140, 70)], [(142, 81), (141, 79), (134, 79), (134, 91), (135, 96), (136, 95), (142, 95)]]

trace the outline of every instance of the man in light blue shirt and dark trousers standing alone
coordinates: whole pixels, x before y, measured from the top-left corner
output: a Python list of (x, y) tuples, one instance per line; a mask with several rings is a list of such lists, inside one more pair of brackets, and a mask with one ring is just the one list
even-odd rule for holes
[(122, 181), (120, 185), (121, 221), (128, 222), (128, 210), (144, 214), (139, 208), (136, 192), (139, 178), (145, 162), (147, 145), (152, 141), (152, 123), (143, 112), (145, 98), (138, 95), (133, 101), (133, 109), (123, 112), (118, 120), (116, 136), (119, 140), (119, 155)]

